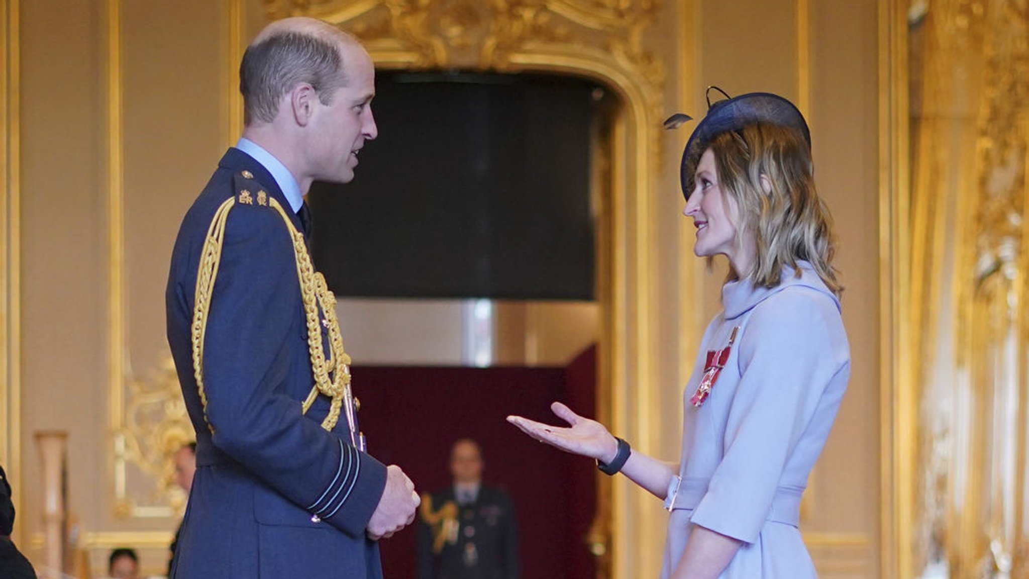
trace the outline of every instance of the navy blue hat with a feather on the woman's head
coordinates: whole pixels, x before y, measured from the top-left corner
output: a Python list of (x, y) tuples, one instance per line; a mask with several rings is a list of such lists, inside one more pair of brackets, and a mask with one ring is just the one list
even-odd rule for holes
[[(725, 98), (711, 103), (711, 91), (718, 91)], [(682, 149), (682, 167), (679, 173), (679, 184), (682, 196), (689, 198), (694, 190), (694, 175), (701, 156), (707, 150), (714, 137), (726, 131), (738, 131), (747, 125), (755, 123), (771, 123), (796, 130), (804, 136), (808, 147), (811, 147), (811, 132), (804, 115), (793, 103), (772, 93), (747, 93), (739, 97), (730, 97), (717, 87), (708, 87), (706, 92), (708, 112), (700, 125), (689, 135), (686, 147)], [(685, 114), (673, 114), (665, 122), (666, 129), (675, 129), (691, 118)]]

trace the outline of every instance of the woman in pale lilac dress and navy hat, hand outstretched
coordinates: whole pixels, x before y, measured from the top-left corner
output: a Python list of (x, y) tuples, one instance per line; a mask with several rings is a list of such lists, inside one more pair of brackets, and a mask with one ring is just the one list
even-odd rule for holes
[(807, 124), (776, 95), (716, 102), (689, 137), (681, 176), (694, 252), (725, 256), (731, 271), (683, 396), (679, 464), (632, 450), (560, 403), (552, 408), (567, 428), (508, 420), (665, 501), (663, 579), (815, 577), (800, 502), (850, 349)]

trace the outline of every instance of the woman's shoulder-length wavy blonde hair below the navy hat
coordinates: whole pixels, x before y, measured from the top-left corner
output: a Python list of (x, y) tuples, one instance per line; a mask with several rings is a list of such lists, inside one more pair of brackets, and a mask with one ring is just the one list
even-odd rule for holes
[(792, 129), (754, 123), (716, 135), (708, 147), (721, 189), (738, 207), (737, 242), (753, 235), (756, 249), (750, 271), (731, 268), (730, 279), (750, 277), (756, 286), (775, 287), (784, 268), (800, 276), (797, 262), (805, 261), (839, 296), (832, 217), (815, 190), (807, 141)]

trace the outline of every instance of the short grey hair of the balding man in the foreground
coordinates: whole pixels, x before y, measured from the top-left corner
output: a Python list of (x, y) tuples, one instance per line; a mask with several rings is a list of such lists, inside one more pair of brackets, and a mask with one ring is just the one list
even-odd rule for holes
[(243, 55), (243, 122), (271, 123), (279, 112), (279, 100), (300, 82), (311, 84), (318, 100), (329, 104), (346, 80), (340, 43), (333, 38), (295, 31), (273, 34)]

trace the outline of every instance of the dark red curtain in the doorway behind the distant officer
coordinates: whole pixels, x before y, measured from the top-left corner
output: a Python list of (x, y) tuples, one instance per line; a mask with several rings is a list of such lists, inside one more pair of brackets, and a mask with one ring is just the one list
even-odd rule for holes
[[(451, 483), (450, 446), (462, 437), (483, 447), (484, 478), (514, 502), (522, 539), (523, 579), (592, 579), (583, 538), (593, 519), (596, 467), (544, 446), (504, 420), (508, 414), (554, 422), (553, 401), (593, 415), (596, 350), (567, 368), (358, 367), (354, 391), (369, 452), (396, 464), (418, 490)], [(412, 579), (413, 527), (382, 542), (387, 579)]]

